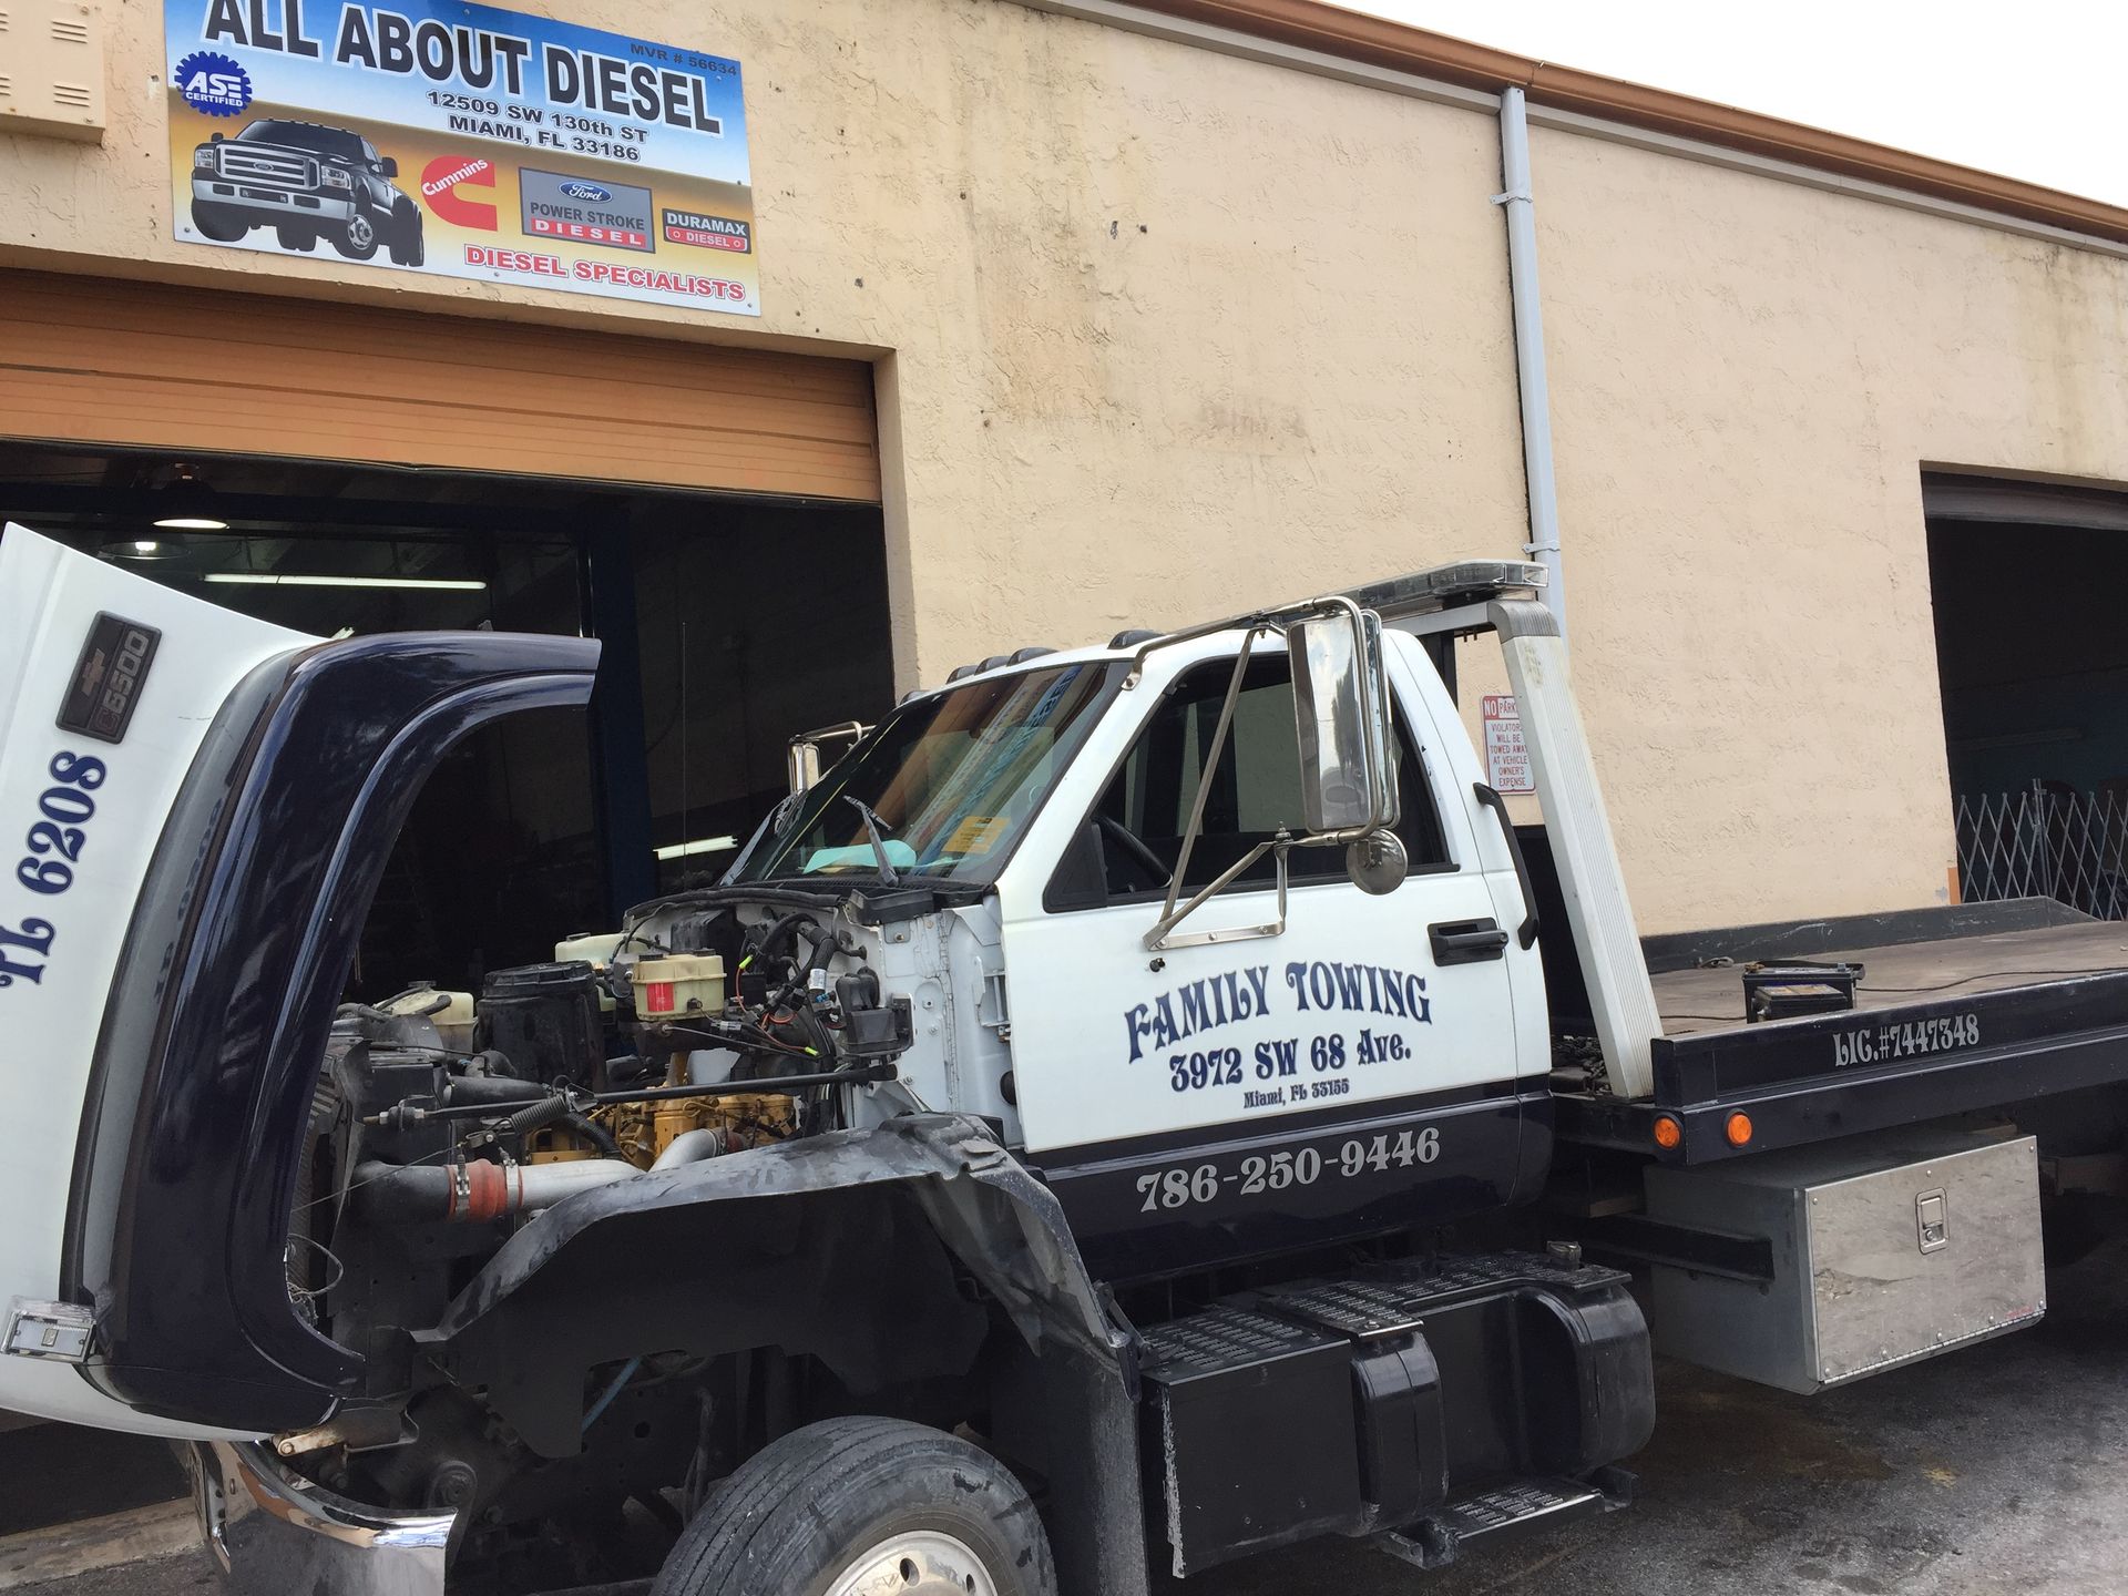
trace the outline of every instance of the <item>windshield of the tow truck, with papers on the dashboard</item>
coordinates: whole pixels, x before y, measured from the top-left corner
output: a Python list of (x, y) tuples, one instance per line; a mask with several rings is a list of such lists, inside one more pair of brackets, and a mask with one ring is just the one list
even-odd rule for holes
[(896, 875), (996, 879), (1094, 724), (1109, 675), (1107, 662), (1024, 670), (902, 704), (730, 881), (879, 875), (866, 819)]

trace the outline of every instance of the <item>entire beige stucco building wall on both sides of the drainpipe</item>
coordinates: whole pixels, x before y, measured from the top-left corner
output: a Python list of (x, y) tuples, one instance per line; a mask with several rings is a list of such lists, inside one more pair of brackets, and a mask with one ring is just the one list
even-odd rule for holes
[[(875, 353), (904, 685), (1519, 545), (1490, 117), (1004, 0), (553, 13), (743, 62), (760, 321), (172, 243), (155, 6), (106, 6), (102, 149), (0, 138), (0, 264)], [(2128, 481), (2128, 266), (1534, 153), (1575, 649), (1643, 930), (1936, 900), (1917, 470)]]

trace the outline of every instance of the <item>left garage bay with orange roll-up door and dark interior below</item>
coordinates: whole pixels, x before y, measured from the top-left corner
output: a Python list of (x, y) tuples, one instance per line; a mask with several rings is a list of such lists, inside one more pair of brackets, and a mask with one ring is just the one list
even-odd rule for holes
[(794, 732), (892, 702), (879, 498), (860, 360), (0, 272), (0, 515), (313, 636), (604, 643), (430, 777), (364, 998), (721, 870)]

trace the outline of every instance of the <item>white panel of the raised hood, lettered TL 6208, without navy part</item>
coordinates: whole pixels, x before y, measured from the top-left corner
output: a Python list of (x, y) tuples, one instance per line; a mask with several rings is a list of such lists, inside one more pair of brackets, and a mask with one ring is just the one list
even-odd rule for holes
[[(0, 1311), (62, 1296), (96, 1032), (185, 772), (236, 685), (311, 641), (0, 532)], [(47, 1332), (0, 1356), (0, 1407), (155, 1428), (32, 1356)]]

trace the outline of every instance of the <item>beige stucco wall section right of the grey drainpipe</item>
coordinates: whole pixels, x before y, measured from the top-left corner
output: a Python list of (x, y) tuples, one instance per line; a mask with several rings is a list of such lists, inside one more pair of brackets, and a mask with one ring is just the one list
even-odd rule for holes
[(1562, 132), (1534, 166), (1643, 930), (1941, 902), (1919, 468), (2128, 481), (2128, 262)]

